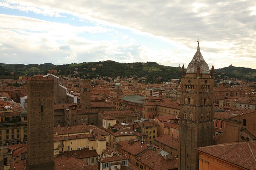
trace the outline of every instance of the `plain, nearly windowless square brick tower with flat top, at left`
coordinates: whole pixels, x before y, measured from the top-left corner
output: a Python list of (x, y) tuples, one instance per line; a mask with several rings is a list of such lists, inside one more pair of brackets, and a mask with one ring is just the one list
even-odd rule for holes
[(53, 106), (53, 79), (29, 79), (27, 170), (54, 170)]

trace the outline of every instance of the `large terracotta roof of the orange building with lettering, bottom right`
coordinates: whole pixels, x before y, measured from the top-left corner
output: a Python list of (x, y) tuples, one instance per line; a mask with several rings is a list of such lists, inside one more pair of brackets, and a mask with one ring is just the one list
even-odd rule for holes
[(256, 141), (224, 143), (196, 150), (243, 168), (256, 169)]

